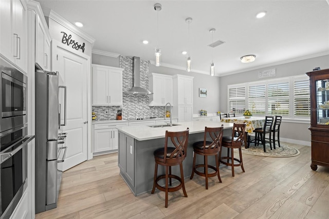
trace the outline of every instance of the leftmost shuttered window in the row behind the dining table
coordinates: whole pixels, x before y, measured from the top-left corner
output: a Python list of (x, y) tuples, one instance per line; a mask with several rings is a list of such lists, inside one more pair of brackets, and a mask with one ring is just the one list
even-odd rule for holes
[(235, 113), (243, 114), (246, 108), (246, 87), (236, 86), (230, 87), (229, 93), (229, 111), (235, 111)]

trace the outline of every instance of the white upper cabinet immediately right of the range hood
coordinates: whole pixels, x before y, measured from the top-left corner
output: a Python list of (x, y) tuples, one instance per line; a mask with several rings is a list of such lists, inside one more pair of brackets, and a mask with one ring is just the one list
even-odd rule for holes
[(173, 78), (172, 76), (152, 73), (150, 76), (149, 96), (150, 106), (164, 106), (173, 103)]

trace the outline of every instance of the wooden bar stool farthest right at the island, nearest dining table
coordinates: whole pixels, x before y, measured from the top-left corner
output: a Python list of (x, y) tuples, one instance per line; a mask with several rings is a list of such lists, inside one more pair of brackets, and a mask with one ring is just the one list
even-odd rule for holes
[[(227, 148), (227, 156), (222, 157), (222, 150), (220, 151), (220, 162), (224, 163), (226, 166), (232, 167), (232, 176), (234, 176), (234, 167), (241, 166), (242, 171), (245, 172), (245, 169), (243, 168), (243, 162), (242, 162), (242, 152), (241, 152), (241, 146), (244, 141), (244, 134), (246, 129), (246, 123), (244, 124), (233, 124), (232, 128), (232, 136), (224, 136), (222, 140), (222, 147)], [(239, 155), (240, 159), (234, 158), (234, 152), (233, 149), (237, 148), (239, 149)], [(229, 150), (231, 149), (231, 150)], [(229, 156), (231, 151), (231, 156)], [(224, 160), (227, 159), (225, 162)], [(231, 162), (230, 162), (231, 160)], [(234, 163), (234, 160), (238, 163)]]

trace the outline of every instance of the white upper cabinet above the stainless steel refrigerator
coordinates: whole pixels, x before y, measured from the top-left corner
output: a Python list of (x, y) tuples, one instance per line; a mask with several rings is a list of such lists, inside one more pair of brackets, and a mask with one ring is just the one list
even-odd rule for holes
[(35, 64), (43, 70), (50, 70), (51, 36), (43, 14), (35, 16)]

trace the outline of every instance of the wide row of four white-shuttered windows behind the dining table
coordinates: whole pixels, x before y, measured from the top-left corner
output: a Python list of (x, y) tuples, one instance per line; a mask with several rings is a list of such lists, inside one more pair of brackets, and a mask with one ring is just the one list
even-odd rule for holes
[(228, 110), (253, 115), (283, 115), (305, 119), (310, 116), (309, 79), (293, 76), (228, 85)]

